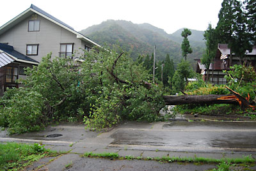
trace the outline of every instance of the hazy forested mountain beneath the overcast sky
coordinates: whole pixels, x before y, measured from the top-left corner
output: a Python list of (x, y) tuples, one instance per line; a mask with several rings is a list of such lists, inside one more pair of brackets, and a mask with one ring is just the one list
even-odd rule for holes
[[(204, 34), (203, 31), (195, 31), (195, 33), (197, 32)], [(124, 50), (131, 52), (133, 59), (137, 59), (140, 55), (147, 56), (149, 54), (151, 56), (154, 45), (156, 45), (157, 61), (163, 61), (166, 54), (169, 54), (176, 66), (182, 59), (180, 50), (182, 37), (179, 38), (178, 36), (177, 38), (176, 33), (178, 34), (178, 31), (173, 35), (167, 34), (163, 29), (150, 24), (133, 24), (125, 20), (107, 20), (99, 25), (88, 27), (80, 33), (88, 36), (99, 45), (112, 47), (112, 45), (118, 43)], [(194, 31), (192, 31), (191, 37), (193, 33)], [(202, 34), (193, 36), (193, 40), (198, 42), (191, 43), (193, 53), (188, 56), (188, 61), (191, 61), (193, 65), (195, 64), (193, 58), (200, 58), (204, 53), (204, 41), (197, 41), (200, 40)]]

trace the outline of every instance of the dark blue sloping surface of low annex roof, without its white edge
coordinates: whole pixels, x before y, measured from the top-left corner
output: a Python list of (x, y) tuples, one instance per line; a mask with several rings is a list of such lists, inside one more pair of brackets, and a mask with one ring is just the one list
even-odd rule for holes
[(38, 61), (35, 61), (34, 59), (31, 59), (30, 57), (25, 56), (24, 54), (20, 54), (20, 52), (17, 52), (16, 50), (14, 50), (13, 47), (10, 45), (0, 43), (0, 49), (6, 52), (7, 54), (10, 54), (11, 56), (16, 57), (17, 59), (38, 63)]

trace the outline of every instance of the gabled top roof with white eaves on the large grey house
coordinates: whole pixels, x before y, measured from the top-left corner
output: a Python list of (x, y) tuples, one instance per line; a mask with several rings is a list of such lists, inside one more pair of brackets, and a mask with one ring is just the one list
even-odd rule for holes
[(6, 22), (6, 24), (1, 26), (0, 27), (0, 35), (3, 34), (5, 31), (7, 31), (8, 29), (10, 29), (13, 26), (15, 26), (16, 24), (18, 24), (19, 22), (21, 22), (22, 20), (28, 18), (33, 13), (36, 13), (36, 14), (44, 17), (45, 19), (50, 20), (51, 22), (54, 22), (58, 26), (61, 26), (64, 29), (67, 29), (68, 31), (76, 34), (78, 39), (86, 41), (86, 42), (88, 42), (88, 43), (90, 43), (92, 45), (96, 45), (96, 46), (100, 47), (100, 45), (98, 45), (94, 41), (90, 40), (89, 38), (87, 38), (83, 34), (78, 33), (77, 31), (75, 31), (73, 27), (68, 26), (67, 24), (65, 24), (61, 20), (56, 19), (55, 17), (53, 17), (49, 13), (45, 12), (44, 10), (41, 10), (40, 8), (38, 8), (37, 6), (35, 6), (33, 4), (31, 4), (31, 6), (27, 10), (23, 11), (22, 13), (17, 15), (15, 18), (13, 18), (12, 20)]

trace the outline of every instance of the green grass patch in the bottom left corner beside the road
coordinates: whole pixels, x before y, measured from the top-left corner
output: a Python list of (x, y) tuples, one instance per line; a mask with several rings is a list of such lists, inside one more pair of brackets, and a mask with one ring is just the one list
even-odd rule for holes
[(55, 156), (56, 151), (45, 149), (40, 144), (8, 142), (0, 144), (0, 170), (22, 170), (45, 156)]

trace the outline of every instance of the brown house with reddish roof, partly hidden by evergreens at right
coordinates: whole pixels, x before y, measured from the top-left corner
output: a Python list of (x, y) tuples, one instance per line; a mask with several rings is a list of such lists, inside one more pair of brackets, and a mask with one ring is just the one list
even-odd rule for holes
[[(232, 54), (232, 60), (230, 59), (230, 48), (227, 44), (218, 44), (218, 49), (216, 56), (214, 58), (214, 63), (210, 64), (209, 67), (209, 81), (213, 84), (227, 84), (227, 80), (224, 78), (225, 73), (223, 70), (230, 70), (230, 66), (234, 64), (239, 64), (239, 57), (236, 54)], [(253, 47), (252, 52), (246, 52), (244, 60), (247, 63), (255, 66), (256, 64), (256, 47)], [(197, 61), (196, 72), (203, 76), (203, 79), (207, 79), (207, 70), (204, 64), (201, 63), (200, 59), (195, 59)], [(212, 77), (213, 73), (213, 77)]]

